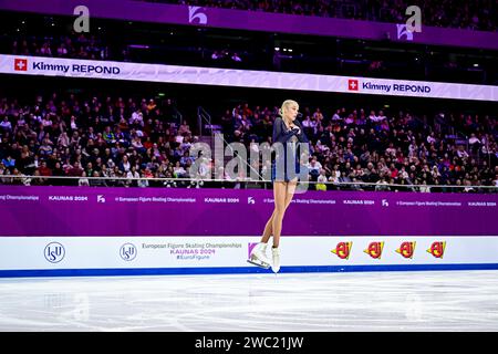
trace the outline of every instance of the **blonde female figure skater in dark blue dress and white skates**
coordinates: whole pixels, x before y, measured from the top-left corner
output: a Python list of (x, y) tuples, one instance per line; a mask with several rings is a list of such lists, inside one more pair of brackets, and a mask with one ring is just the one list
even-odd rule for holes
[[(292, 197), (298, 185), (298, 176), (300, 168), (300, 158), (298, 155), (298, 142), (308, 143), (302, 125), (297, 121), (299, 105), (295, 101), (287, 100), (282, 103), (279, 113), (281, 117), (277, 117), (273, 124), (273, 146), (277, 148), (277, 157), (272, 163), (271, 180), (273, 181), (274, 209), (271, 217), (264, 226), (261, 242), (258, 243), (248, 260), (248, 262), (270, 268), (270, 261), (266, 256), (268, 240), (273, 235), (273, 247), (271, 270), (277, 273), (280, 270), (280, 235), (282, 231), (282, 220), (287, 208), (292, 201)], [(276, 146), (282, 144), (280, 147)], [(294, 168), (290, 170), (289, 168)]]

